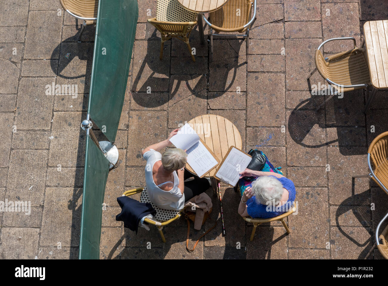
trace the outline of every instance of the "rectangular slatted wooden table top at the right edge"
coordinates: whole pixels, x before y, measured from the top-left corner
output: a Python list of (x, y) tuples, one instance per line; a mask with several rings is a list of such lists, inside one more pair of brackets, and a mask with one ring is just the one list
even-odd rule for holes
[(364, 38), (372, 85), (388, 88), (388, 20), (365, 22)]

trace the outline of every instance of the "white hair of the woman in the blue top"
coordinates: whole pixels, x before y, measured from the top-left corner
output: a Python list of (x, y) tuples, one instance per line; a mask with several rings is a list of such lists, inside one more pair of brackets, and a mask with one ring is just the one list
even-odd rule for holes
[(283, 196), (283, 185), (274, 176), (261, 176), (252, 183), (256, 202), (264, 205), (274, 205)]

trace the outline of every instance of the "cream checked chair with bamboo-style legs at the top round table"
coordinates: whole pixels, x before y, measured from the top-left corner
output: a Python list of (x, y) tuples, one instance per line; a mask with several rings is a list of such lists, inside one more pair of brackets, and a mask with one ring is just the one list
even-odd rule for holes
[(161, 34), (160, 56), (163, 58), (163, 45), (171, 38), (178, 38), (189, 48), (191, 59), (195, 62), (191, 52), (189, 36), (197, 24), (197, 14), (184, 9), (177, 0), (157, 0), (156, 17), (147, 19)]

